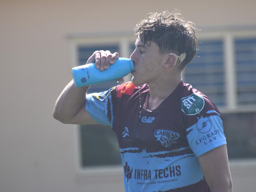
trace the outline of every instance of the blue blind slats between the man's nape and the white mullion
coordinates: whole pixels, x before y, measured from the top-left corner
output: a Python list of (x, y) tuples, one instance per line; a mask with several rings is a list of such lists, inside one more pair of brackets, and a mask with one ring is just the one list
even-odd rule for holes
[(217, 106), (226, 105), (223, 41), (203, 41), (197, 57), (184, 71), (185, 82), (204, 93)]

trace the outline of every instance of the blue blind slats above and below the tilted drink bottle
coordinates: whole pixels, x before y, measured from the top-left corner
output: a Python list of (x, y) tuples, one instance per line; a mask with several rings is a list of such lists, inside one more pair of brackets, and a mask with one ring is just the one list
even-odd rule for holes
[[(96, 50), (109, 50), (111, 53), (119, 52), (118, 45), (107, 45), (107, 46), (78, 46), (77, 54), (78, 54), (78, 64), (85, 65), (89, 57), (93, 54)], [(107, 81), (104, 83), (99, 83), (92, 85), (88, 90), (88, 93), (93, 92), (102, 92), (110, 89), (111, 87), (116, 86), (118, 83), (115, 80)]]

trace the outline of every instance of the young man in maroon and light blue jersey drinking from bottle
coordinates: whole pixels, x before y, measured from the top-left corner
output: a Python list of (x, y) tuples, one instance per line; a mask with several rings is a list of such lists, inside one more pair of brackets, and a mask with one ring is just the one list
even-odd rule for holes
[[(181, 73), (196, 56), (191, 23), (150, 13), (136, 25), (132, 82), (86, 94), (71, 81), (54, 117), (111, 125), (118, 137), (125, 191), (232, 191), (226, 140), (216, 106)], [(87, 63), (107, 70), (118, 53), (95, 51)]]

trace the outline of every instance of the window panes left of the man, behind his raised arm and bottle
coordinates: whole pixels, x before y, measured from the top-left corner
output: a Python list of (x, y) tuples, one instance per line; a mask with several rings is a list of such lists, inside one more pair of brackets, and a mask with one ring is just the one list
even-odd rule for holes
[[(95, 50), (119, 52), (119, 46), (78, 46), (79, 65), (85, 65)], [(106, 91), (117, 85), (115, 80), (95, 84), (88, 93)], [(80, 162), (82, 167), (122, 164), (118, 141), (110, 126), (80, 125)]]

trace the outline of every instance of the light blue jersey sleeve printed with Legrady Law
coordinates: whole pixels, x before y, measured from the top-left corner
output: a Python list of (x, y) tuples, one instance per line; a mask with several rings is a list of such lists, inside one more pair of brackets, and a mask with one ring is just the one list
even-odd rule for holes
[(187, 128), (187, 140), (197, 157), (227, 144), (223, 133), (222, 120), (217, 111), (208, 110), (204, 117), (196, 118), (197, 122)]

